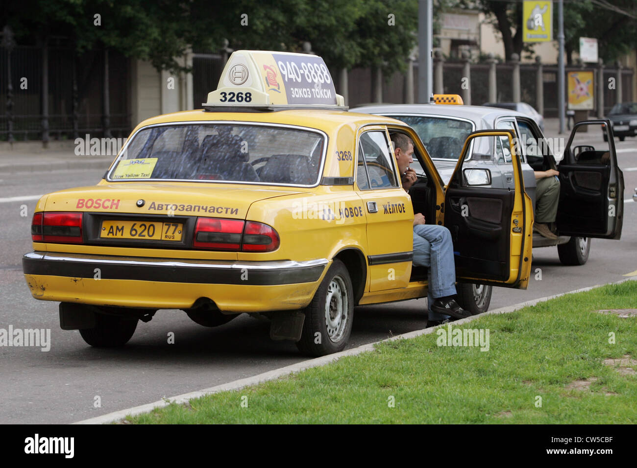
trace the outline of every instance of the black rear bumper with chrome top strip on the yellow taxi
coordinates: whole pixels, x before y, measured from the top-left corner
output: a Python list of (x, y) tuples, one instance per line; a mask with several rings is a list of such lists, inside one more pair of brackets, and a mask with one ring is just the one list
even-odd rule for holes
[(99, 276), (102, 280), (270, 286), (318, 281), (327, 265), (327, 260), (308, 266), (299, 263), (289, 267), (268, 267), (264, 266), (265, 262), (261, 262), (259, 266), (251, 267), (249, 262), (244, 262), (231, 267), (231, 262), (215, 266), (184, 259), (162, 259), (166, 262), (157, 262), (157, 259), (143, 261), (143, 259), (131, 260), (129, 257), (120, 257), (122, 260), (118, 261), (105, 255), (76, 259), (69, 257), (71, 254), (56, 257), (44, 252), (27, 253), (22, 257), (22, 269), (25, 274), (90, 280), (95, 280), (95, 269), (99, 268)]

